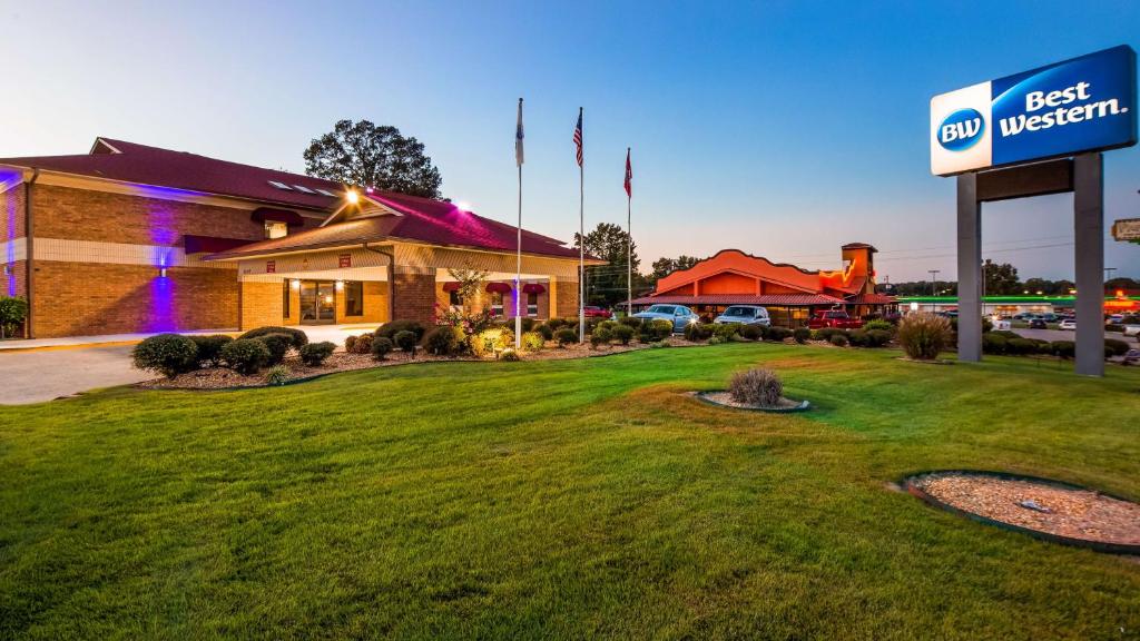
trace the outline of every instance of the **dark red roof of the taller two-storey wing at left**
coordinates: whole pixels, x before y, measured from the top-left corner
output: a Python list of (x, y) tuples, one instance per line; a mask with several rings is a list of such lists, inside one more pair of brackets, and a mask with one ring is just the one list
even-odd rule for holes
[[(115, 152), (112, 152), (112, 148)], [(97, 139), (95, 148), (89, 154), (0, 159), (0, 164), (220, 194), (304, 209), (331, 209), (339, 204), (340, 195), (344, 193), (344, 186), (333, 180), (112, 138)], [(291, 188), (279, 189), (270, 185), (270, 180), (288, 185)], [(304, 187), (314, 193), (307, 194), (294, 186)], [(325, 196), (316, 193), (316, 189), (325, 189), (336, 196)]]

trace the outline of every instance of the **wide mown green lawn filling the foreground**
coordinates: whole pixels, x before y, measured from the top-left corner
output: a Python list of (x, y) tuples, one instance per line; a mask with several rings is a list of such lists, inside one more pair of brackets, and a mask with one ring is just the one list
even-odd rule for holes
[[(728, 344), (0, 408), (0, 638), (1137, 639), (1140, 563), (888, 490), (1140, 500), (1140, 372)], [(684, 395), (764, 363), (816, 409)]]

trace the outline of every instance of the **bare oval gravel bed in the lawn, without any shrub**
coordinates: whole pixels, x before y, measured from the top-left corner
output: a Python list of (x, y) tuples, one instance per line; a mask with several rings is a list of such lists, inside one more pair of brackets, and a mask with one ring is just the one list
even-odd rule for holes
[(1101, 552), (1140, 554), (1140, 504), (1054, 480), (947, 470), (909, 477), (909, 493), (987, 525)]

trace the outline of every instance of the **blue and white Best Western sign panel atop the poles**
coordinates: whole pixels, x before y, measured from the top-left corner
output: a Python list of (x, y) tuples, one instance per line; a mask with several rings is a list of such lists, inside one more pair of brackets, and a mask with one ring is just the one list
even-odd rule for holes
[(950, 176), (1137, 143), (1126, 44), (930, 99), (930, 171)]

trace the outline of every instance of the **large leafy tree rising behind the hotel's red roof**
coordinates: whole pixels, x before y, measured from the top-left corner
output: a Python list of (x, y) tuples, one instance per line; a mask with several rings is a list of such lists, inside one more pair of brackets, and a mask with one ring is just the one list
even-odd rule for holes
[(367, 120), (342, 120), (304, 151), (309, 176), (429, 198), (440, 197), (443, 179), (423, 143)]

